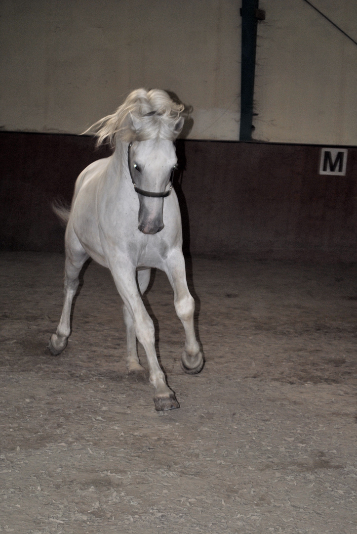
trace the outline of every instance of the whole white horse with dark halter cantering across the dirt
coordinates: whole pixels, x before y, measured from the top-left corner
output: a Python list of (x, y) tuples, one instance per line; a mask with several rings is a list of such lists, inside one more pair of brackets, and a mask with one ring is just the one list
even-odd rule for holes
[(186, 334), (184, 371), (195, 374), (203, 367), (194, 332), (194, 300), (186, 282), (180, 210), (170, 183), (177, 164), (173, 140), (184, 124), (183, 107), (165, 91), (133, 91), (113, 115), (91, 127), (98, 145), (112, 143), (113, 154), (81, 172), (70, 210), (55, 209), (67, 228), (64, 306), (49, 341), (51, 353), (58, 355), (67, 345), (78, 274), (90, 256), (110, 269), (123, 299), (129, 373), (144, 371), (136, 338), (145, 349), (156, 410), (179, 404), (157, 362), (153, 321), (140, 296), (149, 284), (150, 268), (164, 271), (173, 288)]

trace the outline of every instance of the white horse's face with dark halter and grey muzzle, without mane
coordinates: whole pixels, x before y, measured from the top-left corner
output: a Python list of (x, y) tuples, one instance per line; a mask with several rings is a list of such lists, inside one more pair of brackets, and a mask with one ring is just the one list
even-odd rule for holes
[(172, 141), (149, 139), (129, 145), (128, 165), (139, 198), (138, 229), (155, 234), (164, 227), (164, 198), (171, 192), (177, 157)]

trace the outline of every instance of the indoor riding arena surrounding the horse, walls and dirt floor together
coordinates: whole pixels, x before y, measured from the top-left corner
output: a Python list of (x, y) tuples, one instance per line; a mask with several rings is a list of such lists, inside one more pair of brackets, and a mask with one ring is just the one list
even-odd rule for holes
[[(5, 0), (0, 14), (0, 533), (353, 534), (353, 0)], [(142, 295), (172, 410), (155, 409), (139, 342), (145, 372), (128, 372), (123, 301), (92, 259), (67, 347), (47, 348), (65, 269), (52, 205), (112, 154), (79, 134), (141, 87), (185, 105), (173, 189), (199, 373), (162, 270)]]

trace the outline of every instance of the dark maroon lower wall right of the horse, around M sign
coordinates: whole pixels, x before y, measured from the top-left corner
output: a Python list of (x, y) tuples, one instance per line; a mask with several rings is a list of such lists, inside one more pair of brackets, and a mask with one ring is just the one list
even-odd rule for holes
[(357, 149), (320, 176), (321, 147), (185, 142), (194, 254), (355, 261)]

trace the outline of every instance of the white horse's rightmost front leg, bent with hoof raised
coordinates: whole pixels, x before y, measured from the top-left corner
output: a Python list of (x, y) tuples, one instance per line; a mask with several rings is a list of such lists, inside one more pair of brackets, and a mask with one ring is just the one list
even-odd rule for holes
[(179, 250), (173, 250), (167, 260), (165, 272), (174, 293), (174, 306), (177, 316), (184, 326), (186, 334), (185, 350), (181, 364), (185, 373), (196, 374), (202, 370), (204, 359), (197, 343), (194, 328), (195, 301), (189, 293), (186, 281), (184, 256)]

